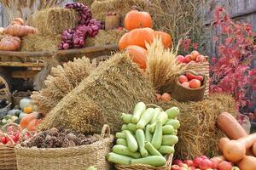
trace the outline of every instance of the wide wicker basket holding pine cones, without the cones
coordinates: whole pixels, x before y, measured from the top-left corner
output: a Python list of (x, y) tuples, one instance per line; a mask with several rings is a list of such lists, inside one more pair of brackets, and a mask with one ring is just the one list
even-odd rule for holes
[(108, 125), (102, 128), (101, 139), (93, 144), (70, 148), (39, 149), (17, 145), (17, 167), (19, 170), (84, 170), (96, 166), (107, 170), (110, 164), (105, 156), (113, 144)]

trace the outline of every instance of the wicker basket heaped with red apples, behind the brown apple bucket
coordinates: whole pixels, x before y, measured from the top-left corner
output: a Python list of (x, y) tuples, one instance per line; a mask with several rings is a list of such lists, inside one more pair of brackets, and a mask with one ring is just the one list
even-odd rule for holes
[(195, 71), (207, 77), (205, 96), (209, 94), (209, 77), (210, 77), (210, 64), (208, 56), (200, 54), (198, 51), (192, 51), (191, 54), (185, 56), (178, 55), (177, 62), (185, 66), (185, 71)]

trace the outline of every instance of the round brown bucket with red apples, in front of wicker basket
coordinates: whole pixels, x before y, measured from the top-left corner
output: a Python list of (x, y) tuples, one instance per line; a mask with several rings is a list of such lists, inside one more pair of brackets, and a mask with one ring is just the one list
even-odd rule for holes
[(172, 98), (179, 102), (201, 101), (204, 99), (207, 77), (195, 74), (194, 71), (185, 71), (174, 85)]

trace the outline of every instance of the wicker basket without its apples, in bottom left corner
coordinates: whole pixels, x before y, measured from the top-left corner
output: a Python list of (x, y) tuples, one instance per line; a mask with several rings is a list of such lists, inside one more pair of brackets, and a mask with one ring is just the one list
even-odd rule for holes
[[(6, 129), (9, 126), (14, 126), (16, 129), (20, 130), (20, 126), (15, 123), (10, 123), (2, 127), (3, 132), (6, 132)], [(16, 156), (15, 156), (15, 142), (9, 137), (7, 133), (0, 133), (0, 136), (7, 137), (12, 144), (0, 145), (0, 169), (1, 170), (15, 170), (16, 166)]]

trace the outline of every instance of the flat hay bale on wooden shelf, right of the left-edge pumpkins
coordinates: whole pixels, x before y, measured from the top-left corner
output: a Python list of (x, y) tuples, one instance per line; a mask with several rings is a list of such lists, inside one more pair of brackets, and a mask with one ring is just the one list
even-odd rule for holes
[(31, 34), (21, 38), (20, 51), (50, 51), (58, 50), (61, 35), (50, 36), (42, 34)]

